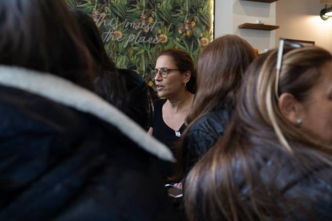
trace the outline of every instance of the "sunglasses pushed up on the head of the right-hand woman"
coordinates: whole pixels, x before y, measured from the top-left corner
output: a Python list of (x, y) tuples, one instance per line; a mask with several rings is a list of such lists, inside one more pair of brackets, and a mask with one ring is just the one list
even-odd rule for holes
[(300, 43), (297, 43), (295, 41), (288, 40), (285, 38), (280, 38), (278, 55), (277, 55), (277, 72), (276, 72), (276, 83), (275, 83), (275, 95), (276, 95), (277, 100), (279, 99), (278, 86), (279, 86), (279, 78), (280, 78), (281, 67), (282, 67), (282, 56), (283, 56), (283, 51), (284, 51), (285, 46), (289, 46), (292, 48), (303, 48), (303, 45), (301, 45)]

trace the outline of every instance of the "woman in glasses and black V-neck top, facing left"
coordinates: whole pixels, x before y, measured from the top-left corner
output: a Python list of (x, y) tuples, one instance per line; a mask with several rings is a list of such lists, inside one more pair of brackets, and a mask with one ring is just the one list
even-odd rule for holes
[[(154, 119), (149, 134), (167, 145), (176, 156), (175, 142), (185, 128), (184, 120), (194, 100), (194, 62), (185, 51), (165, 50), (158, 55), (151, 74), (160, 99), (154, 101)], [(173, 169), (165, 174), (172, 175)]]

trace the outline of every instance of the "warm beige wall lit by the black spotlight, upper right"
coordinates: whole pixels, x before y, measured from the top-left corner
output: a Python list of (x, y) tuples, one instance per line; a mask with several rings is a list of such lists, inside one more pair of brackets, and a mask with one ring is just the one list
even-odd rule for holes
[(279, 0), (276, 11), (280, 29), (276, 41), (280, 37), (315, 41), (315, 45), (332, 53), (332, 18), (322, 20), (322, 8), (320, 0)]

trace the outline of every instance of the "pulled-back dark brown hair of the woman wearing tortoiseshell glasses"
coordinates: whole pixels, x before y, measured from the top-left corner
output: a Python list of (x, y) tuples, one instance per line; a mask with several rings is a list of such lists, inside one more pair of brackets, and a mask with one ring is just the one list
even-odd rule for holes
[(162, 52), (160, 52), (157, 56), (160, 57), (161, 55), (167, 55), (170, 56), (173, 59), (173, 62), (175, 63), (177, 69), (184, 71), (190, 71), (191, 72), (191, 78), (186, 83), (186, 90), (188, 90), (190, 93), (195, 94), (196, 92), (196, 69), (194, 65), (194, 61), (190, 54), (188, 52), (185, 52), (180, 49), (167, 49)]

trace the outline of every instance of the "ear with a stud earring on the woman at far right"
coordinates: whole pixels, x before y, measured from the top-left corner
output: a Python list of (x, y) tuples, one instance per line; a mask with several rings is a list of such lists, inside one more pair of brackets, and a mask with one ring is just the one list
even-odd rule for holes
[(303, 105), (291, 93), (282, 93), (278, 100), (278, 107), (282, 116), (292, 123), (301, 119)]

